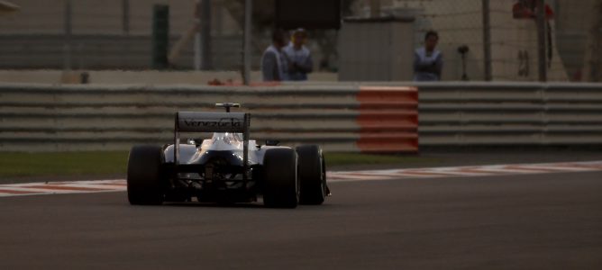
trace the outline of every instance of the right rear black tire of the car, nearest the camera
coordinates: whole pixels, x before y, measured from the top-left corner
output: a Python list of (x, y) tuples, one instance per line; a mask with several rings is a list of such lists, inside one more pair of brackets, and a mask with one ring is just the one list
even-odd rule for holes
[(296, 151), (292, 148), (268, 149), (263, 166), (263, 204), (273, 208), (295, 208), (299, 202)]

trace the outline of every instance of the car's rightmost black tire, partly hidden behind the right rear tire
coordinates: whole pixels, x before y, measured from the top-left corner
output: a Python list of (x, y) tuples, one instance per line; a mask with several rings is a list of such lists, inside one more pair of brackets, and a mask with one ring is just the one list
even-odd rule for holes
[(327, 194), (326, 166), (322, 148), (302, 145), (296, 148), (299, 156), (299, 203), (322, 204)]

